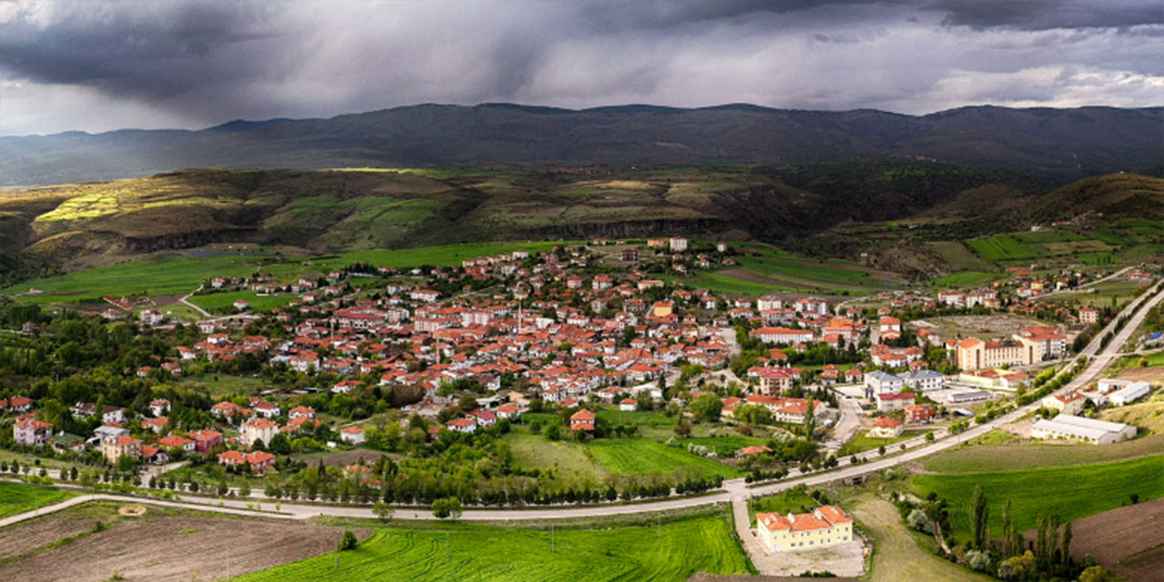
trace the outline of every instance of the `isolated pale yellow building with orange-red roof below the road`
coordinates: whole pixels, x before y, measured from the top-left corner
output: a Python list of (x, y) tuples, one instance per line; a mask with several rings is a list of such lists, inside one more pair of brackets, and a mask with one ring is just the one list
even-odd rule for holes
[(836, 505), (811, 513), (757, 513), (755, 534), (771, 552), (817, 549), (853, 541), (853, 518)]

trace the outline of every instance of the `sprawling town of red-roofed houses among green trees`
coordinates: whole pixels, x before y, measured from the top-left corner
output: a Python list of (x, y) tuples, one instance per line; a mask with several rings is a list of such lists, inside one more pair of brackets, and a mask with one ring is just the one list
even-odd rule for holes
[[(1007, 428), (1015, 438), (1137, 435), (1100, 417), (1149, 396), (1149, 382), (1055, 389), (1123, 308), (1080, 303), (1087, 288), (1127, 281), (1144, 294), (1154, 274), (1023, 270), (986, 288), (858, 298), (750, 297), (666, 275), (734, 255), (680, 236), (595, 239), (459, 265), (214, 276), (200, 293), (288, 301), (236, 300), (234, 313), (190, 322), (135, 298), (74, 312), (9, 304), (27, 346), (56, 359), (15, 361), (9, 349), (7, 364), (72, 376), (0, 399), (12, 426), (0, 443), (19, 455), (2, 469), (122, 492), (420, 504), (439, 516), (447, 504), (610, 503), (740, 476), (779, 482), (892, 457), (1024, 405), (1038, 411)], [(1049, 290), (1067, 300), (1039, 301)], [(985, 333), (964, 333), (975, 326)], [(562, 470), (547, 453), (562, 442), (592, 442), (594, 461)], [(860, 548), (850, 521), (831, 505), (758, 513), (748, 537), (768, 556)], [(847, 555), (856, 566), (831, 570), (861, 572), (860, 552)]]

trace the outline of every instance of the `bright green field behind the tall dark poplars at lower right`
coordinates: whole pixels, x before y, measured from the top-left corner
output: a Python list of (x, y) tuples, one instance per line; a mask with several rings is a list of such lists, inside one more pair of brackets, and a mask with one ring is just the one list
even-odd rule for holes
[[(981, 485), (989, 503), (991, 528), (996, 534), (1002, 527), (1002, 505), (1007, 499), (1013, 503), (1018, 530), (1029, 530), (1035, 527), (1039, 513), (1057, 513), (1071, 520), (1126, 505), (1133, 494), (1141, 501), (1162, 497), (1161, 475), (1164, 475), (1164, 455), (1048, 469), (914, 475), (909, 483), (922, 496), (935, 492), (950, 503), (951, 521), (958, 534), (970, 532), (970, 502), (974, 487)], [(1063, 487), (1064, 483), (1071, 487)]]

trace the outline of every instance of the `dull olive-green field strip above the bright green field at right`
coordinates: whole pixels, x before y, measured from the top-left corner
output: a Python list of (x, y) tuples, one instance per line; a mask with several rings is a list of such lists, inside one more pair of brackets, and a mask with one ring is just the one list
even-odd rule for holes
[[(989, 434), (989, 433), (987, 433)], [(1103, 445), (972, 445), (954, 447), (920, 460), (936, 473), (989, 473), (1106, 463), (1159, 454), (1164, 435), (1149, 435)]]

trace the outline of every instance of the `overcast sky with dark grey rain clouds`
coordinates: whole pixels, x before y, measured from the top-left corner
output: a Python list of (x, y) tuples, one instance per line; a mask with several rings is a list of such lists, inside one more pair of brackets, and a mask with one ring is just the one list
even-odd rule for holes
[(419, 102), (1164, 104), (1162, 0), (0, 0), (0, 135)]

